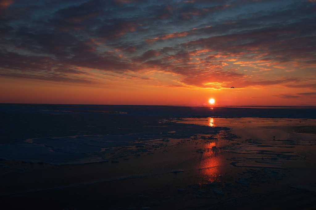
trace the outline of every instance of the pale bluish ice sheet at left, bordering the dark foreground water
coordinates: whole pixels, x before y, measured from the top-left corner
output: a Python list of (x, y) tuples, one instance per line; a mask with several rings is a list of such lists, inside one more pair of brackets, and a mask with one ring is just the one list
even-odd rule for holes
[[(148, 134), (146, 134), (148, 135)], [(161, 138), (150, 134), (91, 135), (27, 139), (25, 143), (0, 145), (0, 154), (11, 160), (31, 160), (34, 163), (85, 164), (107, 161), (104, 154), (113, 154), (123, 147), (152, 145), (149, 141)], [(163, 139), (163, 138), (161, 138)]]

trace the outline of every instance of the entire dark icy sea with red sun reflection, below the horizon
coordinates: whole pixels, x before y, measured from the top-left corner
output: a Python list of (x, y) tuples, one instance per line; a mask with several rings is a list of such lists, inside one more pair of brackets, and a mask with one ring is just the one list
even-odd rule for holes
[(315, 118), (315, 107), (0, 104), (1, 209), (316, 209), (315, 134), (297, 132)]

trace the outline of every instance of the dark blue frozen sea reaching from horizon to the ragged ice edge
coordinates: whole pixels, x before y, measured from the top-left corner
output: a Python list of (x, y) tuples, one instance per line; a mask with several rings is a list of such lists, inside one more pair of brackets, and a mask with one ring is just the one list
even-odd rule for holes
[(0, 104), (0, 157), (51, 164), (104, 162), (129, 148), (141, 155), (223, 127), (174, 123), (180, 117), (316, 118), (313, 107)]

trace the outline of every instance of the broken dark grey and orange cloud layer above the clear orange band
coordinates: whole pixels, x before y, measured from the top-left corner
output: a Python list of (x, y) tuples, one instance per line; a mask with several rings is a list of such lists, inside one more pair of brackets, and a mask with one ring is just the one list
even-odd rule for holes
[(0, 72), (73, 83), (159, 72), (174, 88), (315, 90), (305, 71), (316, 67), (314, 16), (311, 0), (0, 0)]

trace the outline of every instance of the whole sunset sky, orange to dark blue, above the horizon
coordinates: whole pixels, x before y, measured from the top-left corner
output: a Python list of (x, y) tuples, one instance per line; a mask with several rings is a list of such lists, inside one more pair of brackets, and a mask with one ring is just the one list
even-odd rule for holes
[(315, 19), (316, 0), (0, 0), (0, 103), (316, 106)]

